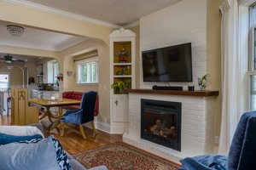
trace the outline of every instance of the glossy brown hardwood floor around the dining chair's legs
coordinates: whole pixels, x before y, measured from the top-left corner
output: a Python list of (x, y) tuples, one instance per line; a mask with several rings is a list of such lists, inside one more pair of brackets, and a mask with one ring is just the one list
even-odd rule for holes
[[(9, 125), (10, 116), (1, 116), (0, 125)], [(54, 135), (58, 139), (63, 148), (70, 154), (74, 155), (85, 150), (95, 149), (102, 145), (111, 144), (114, 142), (122, 141), (122, 135), (120, 134), (108, 134), (97, 130), (96, 137), (93, 137), (92, 130), (88, 127), (84, 127), (84, 133), (87, 139), (83, 139), (79, 131), (74, 128), (67, 128), (64, 136), (60, 136), (57, 131), (46, 133), (45, 135)]]

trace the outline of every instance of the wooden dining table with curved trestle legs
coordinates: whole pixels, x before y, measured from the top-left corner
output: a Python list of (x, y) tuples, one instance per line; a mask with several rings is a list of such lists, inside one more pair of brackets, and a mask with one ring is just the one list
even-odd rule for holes
[[(49, 122), (51, 124), (49, 127), (47, 127), (48, 130), (52, 130), (55, 127), (57, 127), (61, 122), (61, 116), (62, 116), (62, 109), (61, 106), (67, 106), (67, 105), (79, 105), (81, 103), (80, 100), (75, 99), (66, 99), (66, 98), (60, 98), (60, 99), (29, 99), (28, 100), (31, 104), (43, 106), (46, 108), (46, 111), (44, 111), (43, 116), (39, 117), (39, 120), (43, 119), (45, 116), (48, 116)], [(50, 110), (52, 107), (59, 107), (58, 116), (54, 116)], [(52, 118), (55, 118), (55, 122), (53, 122)]]

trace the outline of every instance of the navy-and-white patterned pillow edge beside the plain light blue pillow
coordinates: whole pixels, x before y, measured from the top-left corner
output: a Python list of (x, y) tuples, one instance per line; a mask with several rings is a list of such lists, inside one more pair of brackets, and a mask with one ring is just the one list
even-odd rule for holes
[(53, 136), (49, 136), (48, 139), (55, 146), (55, 152), (57, 155), (57, 161), (62, 170), (72, 170), (72, 167), (67, 159), (66, 152), (62, 149), (60, 142)]

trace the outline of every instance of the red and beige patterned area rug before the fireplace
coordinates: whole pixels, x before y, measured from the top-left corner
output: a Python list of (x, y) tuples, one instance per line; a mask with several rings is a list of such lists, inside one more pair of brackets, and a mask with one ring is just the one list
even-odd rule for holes
[(179, 166), (129, 144), (117, 142), (74, 156), (84, 167), (105, 165), (109, 170), (174, 170)]

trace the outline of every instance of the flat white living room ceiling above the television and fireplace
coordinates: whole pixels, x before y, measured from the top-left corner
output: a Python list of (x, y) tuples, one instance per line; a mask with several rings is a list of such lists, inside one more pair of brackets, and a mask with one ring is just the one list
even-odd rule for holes
[[(21, 0), (24, 1), (24, 0)], [(180, 0), (26, 0), (117, 26), (125, 26)]]

